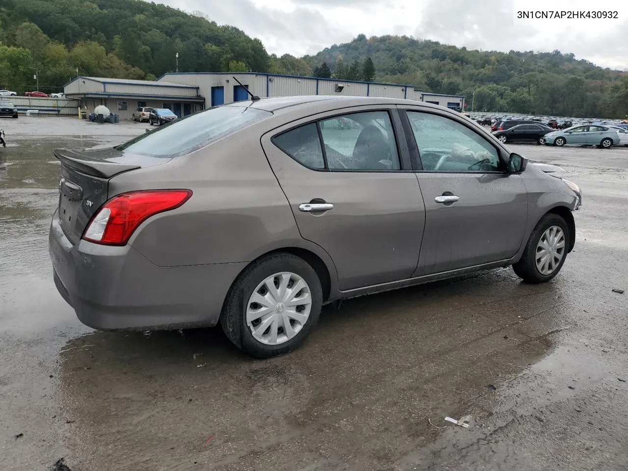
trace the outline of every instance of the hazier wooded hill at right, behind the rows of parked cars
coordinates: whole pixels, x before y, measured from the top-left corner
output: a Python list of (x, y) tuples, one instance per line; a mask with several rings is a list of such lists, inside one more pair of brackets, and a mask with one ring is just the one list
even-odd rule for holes
[[(560, 51), (467, 50), (408, 36), (359, 35), (303, 59), (327, 63), (342, 77), (371, 57), (375, 80), (415, 85), (435, 93), (465, 95), (470, 109), (583, 117), (628, 114), (628, 72), (577, 60)], [(338, 74), (338, 61), (340, 73)], [(357, 61), (357, 64), (355, 63)]]

